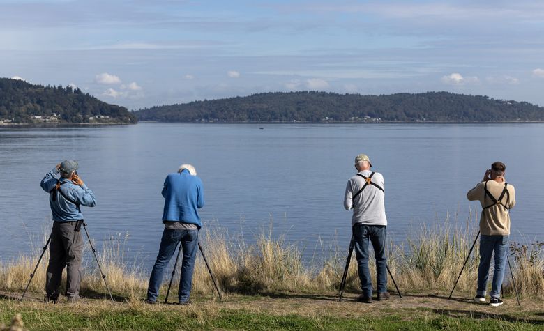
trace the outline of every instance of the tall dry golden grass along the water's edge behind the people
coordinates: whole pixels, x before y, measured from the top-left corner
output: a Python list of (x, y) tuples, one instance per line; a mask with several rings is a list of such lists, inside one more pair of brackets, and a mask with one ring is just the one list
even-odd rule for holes
[[(388, 265), (400, 290), (441, 291), (448, 293), (457, 279), (464, 260), (476, 237), (474, 223), (467, 222), (466, 229), (455, 229), (446, 221), (436, 228), (423, 227), (418, 234), (407, 238), (405, 245), (388, 245)], [(114, 294), (123, 296), (137, 305), (144, 298), (148, 274), (142, 265), (128, 263), (124, 243), (128, 236), (109, 238), (98, 252), (100, 264), (107, 272), (107, 281)], [(202, 231), (200, 240), (213, 274), (223, 293), (264, 293), (271, 291), (334, 291), (338, 289), (345, 266), (346, 252), (335, 249), (331, 258), (317, 265), (305, 265), (302, 254), (295, 245), (287, 245), (282, 237), (272, 238), (271, 231), (262, 234), (252, 245), (243, 240), (229, 238), (226, 232)], [(513, 245), (514, 277), (520, 295), (529, 298), (544, 298), (544, 243), (531, 247)], [(517, 247), (517, 248), (516, 248)], [(347, 248), (347, 247), (346, 247)], [(43, 291), (48, 253), (36, 272), (30, 291)], [(86, 265), (82, 279), (82, 293), (105, 293), (103, 279), (96, 270), (96, 262), (86, 247)], [(16, 261), (0, 265), (0, 288), (8, 291), (22, 291), (34, 268), (38, 256), (21, 256)], [(173, 263), (173, 262), (172, 262)], [(370, 263), (372, 275), (374, 264)], [(474, 246), (457, 290), (474, 292), (478, 269), (478, 243)], [(179, 272), (176, 272), (179, 275)], [(171, 273), (166, 272), (163, 291), (165, 293)], [(491, 277), (490, 277), (491, 278)], [(509, 270), (506, 270), (506, 294), (513, 293)], [(174, 280), (175, 293), (178, 279)], [(202, 256), (197, 258), (193, 277), (193, 293), (212, 294), (215, 292), (209, 272)], [(393, 291), (393, 282), (388, 282)], [(352, 258), (347, 277), (346, 291), (359, 288), (356, 260)], [(174, 295), (175, 296), (175, 295)], [(172, 297), (173, 298), (173, 297)]]

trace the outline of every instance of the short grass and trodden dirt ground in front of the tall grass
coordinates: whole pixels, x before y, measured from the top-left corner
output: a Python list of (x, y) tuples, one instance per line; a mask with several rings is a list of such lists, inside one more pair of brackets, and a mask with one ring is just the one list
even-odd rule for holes
[[(0, 324), (15, 314), (29, 330), (542, 330), (538, 301), (494, 309), (470, 300), (405, 295), (364, 305), (335, 293), (199, 295), (192, 305), (86, 300), (75, 305), (0, 299)], [(540, 301), (542, 305), (542, 301)], [(540, 312), (540, 313), (539, 313)], [(539, 315), (540, 314), (540, 315)]]

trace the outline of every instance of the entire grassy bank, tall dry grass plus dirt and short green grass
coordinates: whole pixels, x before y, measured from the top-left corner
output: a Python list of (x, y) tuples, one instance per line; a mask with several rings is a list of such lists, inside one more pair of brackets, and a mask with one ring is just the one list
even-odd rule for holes
[[(116, 236), (109, 238), (98, 252), (116, 302), (103, 300), (106, 293), (103, 279), (88, 247), (82, 279), (82, 295), (89, 298), (86, 302), (73, 306), (40, 302), (48, 252), (33, 279), (28, 300), (17, 302), (13, 299), (24, 290), (38, 259), (38, 256), (20, 256), (0, 265), (0, 323), (8, 324), (15, 314), (22, 313), (30, 330), (345, 330), (355, 327), (367, 330), (541, 330), (544, 325), (543, 243), (511, 246), (510, 257), (522, 307), (515, 304), (508, 270), (504, 306), (493, 309), (471, 302), (476, 286), (478, 245), (453, 300), (447, 300), (476, 236), (473, 229), (472, 224), (467, 224), (465, 229), (455, 229), (446, 222), (437, 228), (421, 229), (416, 236), (408, 238), (405, 245), (390, 243), (388, 265), (403, 298), (393, 295), (387, 302), (372, 305), (354, 301), (359, 293), (355, 259), (347, 277), (347, 300), (335, 300), (345, 266), (345, 248), (331, 249), (324, 263), (308, 265), (302, 262), (297, 247), (287, 245), (282, 238), (272, 238), (271, 231), (256, 238), (251, 245), (229, 238), (225, 231), (201, 233), (206, 257), (224, 300), (217, 300), (204, 261), (199, 257), (192, 305), (144, 305), (142, 300), (149, 275), (135, 261), (126, 261), (123, 247), (128, 237)], [(35, 250), (40, 252), (40, 247)], [(371, 268), (374, 269), (372, 263)], [(171, 270), (165, 274), (169, 277)], [(388, 285), (390, 291), (395, 292), (392, 282)], [(166, 286), (167, 282), (161, 289), (160, 301), (164, 300)], [(170, 301), (176, 300), (176, 287), (174, 281)]]

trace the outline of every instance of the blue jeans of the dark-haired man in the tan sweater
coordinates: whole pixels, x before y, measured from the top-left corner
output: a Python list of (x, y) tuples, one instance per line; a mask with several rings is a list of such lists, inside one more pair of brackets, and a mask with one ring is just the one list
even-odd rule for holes
[(506, 269), (506, 252), (508, 251), (508, 236), (485, 236), (480, 237), (480, 265), (478, 266), (478, 290), (477, 295), (485, 296), (485, 289), (488, 285), (489, 266), (491, 255), (495, 252), (495, 270), (493, 272), (493, 283), (491, 298), (501, 297), (501, 285)]

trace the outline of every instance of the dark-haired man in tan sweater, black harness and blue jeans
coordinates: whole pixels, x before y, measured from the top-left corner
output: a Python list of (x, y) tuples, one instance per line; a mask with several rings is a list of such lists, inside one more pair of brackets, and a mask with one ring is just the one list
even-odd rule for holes
[(502, 162), (494, 162), (491, 169), (485, 171), (483, 180), (467, 193), (470, 201), (480, 201), (482, 213), (480, 217), (480, 265), (478, 266), (478, 289), (476, 302), (485, 301), (485, 290), (491, 256), (494, 252), (494, 272), (490, 305), (502, 305), (501, 284), (506, 265), (504, 260), (508, 251), (510, 235), (510, 209), (515, 206), (515, 189), (506, 183), (504, 174), (506, 166)]

